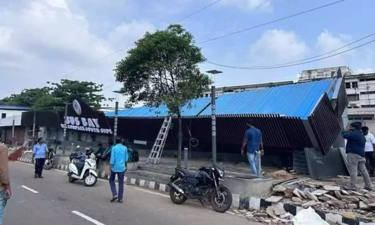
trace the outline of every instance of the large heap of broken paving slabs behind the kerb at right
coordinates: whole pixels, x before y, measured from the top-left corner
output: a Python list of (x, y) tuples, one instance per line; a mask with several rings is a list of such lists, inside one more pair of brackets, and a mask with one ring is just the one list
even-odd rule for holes
[(351, 212), (375, 217), (375, 193), (365, 190), (347, 190), (340, 186), (309, 184), (305, 181), (294, 185), (273, 187), (268, 202), (284, 202), (300, 207), (312, 207), (336, 213)]

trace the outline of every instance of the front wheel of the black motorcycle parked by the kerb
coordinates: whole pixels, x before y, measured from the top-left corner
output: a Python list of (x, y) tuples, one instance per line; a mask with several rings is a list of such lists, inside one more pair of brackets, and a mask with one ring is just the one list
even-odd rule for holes
[(217, 195), (216, 190), (211, 193), (211, 205), (212, 208), (219, 212), (224, 213), (232, 205), (232, 192), (228, 187), (221, 186), (219, 187), (219, 196)]

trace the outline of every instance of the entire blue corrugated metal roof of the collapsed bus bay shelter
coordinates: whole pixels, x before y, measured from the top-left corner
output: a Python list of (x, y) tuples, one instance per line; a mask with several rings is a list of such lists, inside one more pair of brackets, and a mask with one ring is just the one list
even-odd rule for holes
[[(330, 78), (220, 95), (216, 99), (216, 114), (280, 114), (306, 118), (324, 93), (332, 98), (333, 81)], [(211, 107), (207, 107), (210, 102), (211, 98), (195, 99), (192, 101), (192, 108), (183, 108), (182, 115), (211, 115)], [(139, 107), (121, 110), (118, 117), (165, 117), (167, 114), (165, 106), (157, 110)], [(106, 115), (113, 117), (114, 112), (108, 112)]]

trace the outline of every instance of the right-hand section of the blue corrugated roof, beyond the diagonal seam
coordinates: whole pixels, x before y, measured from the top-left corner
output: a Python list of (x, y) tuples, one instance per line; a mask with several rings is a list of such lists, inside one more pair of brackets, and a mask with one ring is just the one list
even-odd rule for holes
[[(280, 114), (306, 118), (333, 79), (249, 90), (216, 99), (216, 114)], [(332, 96), (332, 92), (330, 93)], [(210, 115), (206, 108), (199, 115)]]

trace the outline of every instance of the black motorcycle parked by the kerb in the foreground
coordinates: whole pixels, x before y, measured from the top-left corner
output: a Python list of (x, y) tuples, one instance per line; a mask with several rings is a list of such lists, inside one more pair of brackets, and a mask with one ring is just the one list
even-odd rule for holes
[(203, 206), (210, 202), (215, 211), (223, 213), (232, 205), (231, 191), (220, 184), (224, 174), (217, 166), (201, 167), (198, 172), (175, 168), (168, 183), (169, 196), (174, 204), (183, 204), (188, 198), (198, 199)]

